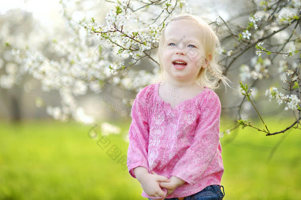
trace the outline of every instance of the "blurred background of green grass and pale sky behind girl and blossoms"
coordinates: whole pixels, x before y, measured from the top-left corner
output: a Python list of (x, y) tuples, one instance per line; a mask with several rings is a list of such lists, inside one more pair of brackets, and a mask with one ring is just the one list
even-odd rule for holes
[[(239, 24), (246, 24), (253, 9), (251, 0), (187, 2), (195, 14), (212, 21), (219, 15), (224, 20), (234, 18)], [(112, 2), (105, 0), (74, 4), (68, 7), (73, 10), (74, 20), (94, 16), (103, 23), (112, 7)], [(130, 105), (118, 106), (118, 102), (132, 101), (137, 90), (112, 81), (96, 88), (90, 84), (84, 95), (75, 96), (76, 108), (82, 108), (76, 115), (84, 117), (57, 120), (60, 91), (47, 91), (41, 87), (41, 80), (23, 73), (11, 51), (12, 47), (35, 47), (49, 60), (59, 60), (59, 50), (50, 46), (54, 40), (70, 38), (63, 14), (60, 1), (0, 2), (0, 199), (143, 200), (140, 183), (129, 175), (126, 166)], [(91, 41), (96, 42), (85, 44), (95, 49)], [(222, 44), (230, 45), (225, 41)], [(253, 51), (246, 53), (229, 71), (227, 77), (233, 88), (222, 86), (216, 90), (223, 107), (220, 131), (224, 133), (224, 199), (301, 200), (301, 131), (290, 129), (265, 136), (250, 127), (233, 129), (237, 108), (229, 107), (243, 99), (239, 67), (252, 65), (254, 56)], [(150, 61), (142, 60), (134, 70), (151, 72), (153, 68)], [(152, 80), (146, 78), (146, 85)], [(272, 84), (282, 85), (279, 80), (262, 80), (252, 87), (252, 94), (269, 129), (279, 131), (295, 119), (292, 112), (284, 112), (284, 105), (265, 97), (266, 88)], [(241, 118), (263, 127), (248, 101), (241, 106)]]

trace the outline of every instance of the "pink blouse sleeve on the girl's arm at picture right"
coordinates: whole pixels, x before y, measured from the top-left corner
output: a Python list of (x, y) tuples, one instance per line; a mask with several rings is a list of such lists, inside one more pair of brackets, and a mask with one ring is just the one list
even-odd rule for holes
[(221, 102), (213, 91), (205, 98), (200, 106), (201, 113), (193, 141), (177, 161), (171, 174), (190, 185), (201, 178), (218, 152)]

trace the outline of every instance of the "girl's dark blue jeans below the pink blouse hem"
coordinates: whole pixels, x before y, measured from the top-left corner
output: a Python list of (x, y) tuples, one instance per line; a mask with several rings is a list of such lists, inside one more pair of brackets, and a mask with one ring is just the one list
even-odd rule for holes
[[(223, 192), (221, 190), (221, 187), (223, 187)], [(186, 197), (184, 200), (223, 200), (225, 197), (225, 190), (224, 186), (220, 185), (210, 185), (201, 190), (200, 192), (197, 192), (193, 195), (190, 195)], [(151, 200), (150, 198), (148, 198)], [(170, 198), (165, 200), (179, 200), (178, 198)]]

